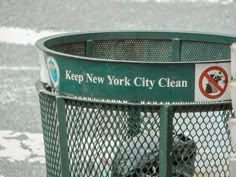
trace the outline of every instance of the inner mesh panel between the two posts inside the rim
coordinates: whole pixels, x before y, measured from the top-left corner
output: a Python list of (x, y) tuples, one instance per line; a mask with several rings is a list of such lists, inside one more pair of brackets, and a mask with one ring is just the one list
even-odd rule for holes
[(129, 61), (171, 61), (171, 40), (108, 40), (93, 42), (93, 57)]

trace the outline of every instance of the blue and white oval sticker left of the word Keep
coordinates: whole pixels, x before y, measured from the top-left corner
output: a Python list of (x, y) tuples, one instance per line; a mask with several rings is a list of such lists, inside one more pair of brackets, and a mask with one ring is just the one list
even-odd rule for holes
[(47, 66), (51, 81), (54, 84), (54, 86), (57, 87), (59, 85), (60, 73), (56, 60), (52, 57), (48, 57)]

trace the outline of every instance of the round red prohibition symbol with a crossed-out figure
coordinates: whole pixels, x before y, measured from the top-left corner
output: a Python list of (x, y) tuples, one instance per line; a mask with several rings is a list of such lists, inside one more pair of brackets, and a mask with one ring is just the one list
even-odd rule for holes
[(201, 93), (210, 99), (221, 97), (228, 85), (228, 75), (219, 66), (211, 66), (204, 70), (198, 81)]

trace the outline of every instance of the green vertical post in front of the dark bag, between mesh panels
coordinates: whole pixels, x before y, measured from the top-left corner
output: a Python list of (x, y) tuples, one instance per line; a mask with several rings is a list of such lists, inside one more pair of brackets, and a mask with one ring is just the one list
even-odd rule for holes
[(168, 105), (160, 108), (160, 176), (172, 176), (173, 108)]

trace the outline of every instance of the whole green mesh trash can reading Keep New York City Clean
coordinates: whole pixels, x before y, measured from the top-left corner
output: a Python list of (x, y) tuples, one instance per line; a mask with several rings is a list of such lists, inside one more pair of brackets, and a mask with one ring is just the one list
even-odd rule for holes
[(235, 41), (177, 32), (37, 41), (47, 177), (229, 176)]

